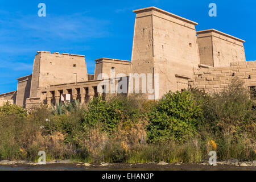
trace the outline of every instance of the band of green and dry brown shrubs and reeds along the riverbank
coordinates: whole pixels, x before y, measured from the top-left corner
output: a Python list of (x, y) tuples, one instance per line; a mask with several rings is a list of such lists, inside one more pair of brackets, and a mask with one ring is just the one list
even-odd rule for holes
[(193, 89), (68, 108), (42, 105), (27, 115), (0, 106), (0, 160), (36, 160), (41, 150), (47, 159), (84, 162), (201, 162), (211, 150), (218, 160), (256, 159), (256, 114), (239, 83), (213, 96)]

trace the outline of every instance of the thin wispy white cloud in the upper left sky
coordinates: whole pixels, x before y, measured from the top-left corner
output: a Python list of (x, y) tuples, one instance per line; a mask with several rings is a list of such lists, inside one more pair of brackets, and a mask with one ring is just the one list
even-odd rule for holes
[(38, 51), (38, 47), (51, 49), (52, 42), (63, 47), (65, 42), (81, 44), (87, 39), (111, 36), (107, 28), (109, 20), (90, 17), (86, 12), (73, 15), (47, 14), (46, 17), (39, 17), (10, 15), (1, 11), (0, 16), (0, 53), (15, 53), (16, 50)]

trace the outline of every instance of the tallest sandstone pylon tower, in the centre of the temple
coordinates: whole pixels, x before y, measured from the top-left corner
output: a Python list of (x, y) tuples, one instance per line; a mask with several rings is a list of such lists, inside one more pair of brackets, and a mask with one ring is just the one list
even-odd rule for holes
[(159, 97), (169, 90), (175, 92), (184, 88), (194, 68), (200, 64), (197, 23), (156, 7), (134, 12), (131, 72), (158, 73)]

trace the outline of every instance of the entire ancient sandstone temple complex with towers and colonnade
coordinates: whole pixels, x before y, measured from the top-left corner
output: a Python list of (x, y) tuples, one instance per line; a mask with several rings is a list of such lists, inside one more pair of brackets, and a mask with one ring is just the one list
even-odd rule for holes
[(256, 61), (246, 61), (244, 40), (214, 29), (196, 31), (196, 22), (156, 7), (133, 12), (131, 60), (97, 59), (94, 75), (89, 75), (83, 55), (38, 51), (32, 75), (18, 78), (16, 91), (0, 94), (0, 104), (8, 100), (33, 109), (41, 103), (59, 104), (65, 94), (84, 103), (99, 88), (108, 91), (104, 98), (143, 93), (157, 100), (189, 86), (220, 92), (233, 78), (255, 90)]

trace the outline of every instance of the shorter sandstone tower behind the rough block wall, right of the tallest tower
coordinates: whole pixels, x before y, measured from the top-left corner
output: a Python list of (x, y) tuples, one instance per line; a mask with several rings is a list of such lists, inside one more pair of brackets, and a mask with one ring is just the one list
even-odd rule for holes
[(242, 39), (210, 29), (197, 31), (201, 64), (225, 67), (236, 61), (245, 61)]

